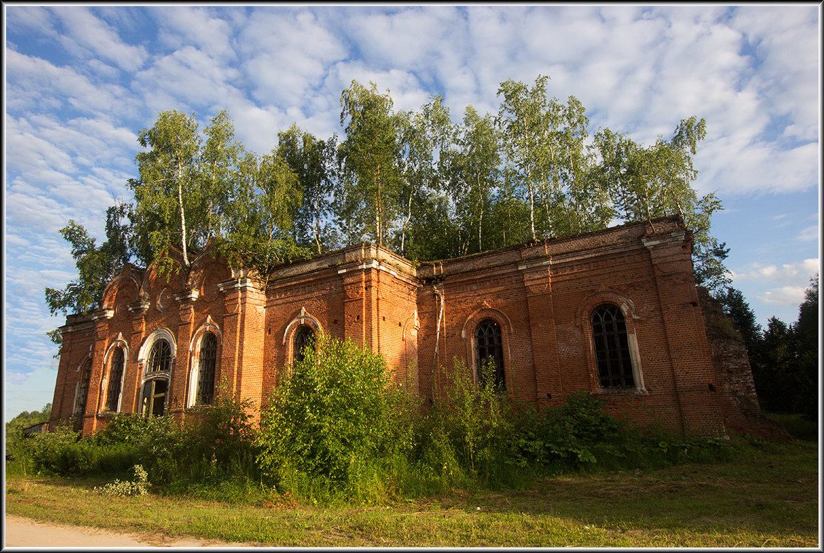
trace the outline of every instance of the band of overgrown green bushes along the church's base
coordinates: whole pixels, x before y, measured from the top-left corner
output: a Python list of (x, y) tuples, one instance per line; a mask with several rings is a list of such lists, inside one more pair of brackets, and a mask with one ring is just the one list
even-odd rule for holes
[(318, 340), (281, 378), (259, 430), (250, 401), (224, 393), (186, 410), (180, 424), (118, 415), (87, 438), (68, 428), (42, 433), (24, 440), (25, 457), (58, 476), (145, 468), (147, 480), (115, 480), (112, 494), (142, 493), (133, 486), (150, 480), (156, 493), (203, 499), (254, 501), (274, 490), (290, 501), (374, 503), (563, 471), (717, 462), (737, 451), (725, 439), (642, 432), (585, 392), (539, 412), (494, 385), (494, 366), (476, 379), (460, 360), (441, 399), (424, 409), (413, 386), (392, 382), (380, 355)]

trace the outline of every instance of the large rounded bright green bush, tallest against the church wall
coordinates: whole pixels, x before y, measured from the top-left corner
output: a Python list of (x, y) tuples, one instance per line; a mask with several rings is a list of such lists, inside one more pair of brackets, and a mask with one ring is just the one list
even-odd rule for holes
[(261, 414), (259, 462), (283, 485), (306, 474), (346, 485), (370, 462), (404, 448), (396, 436), (382, 357), (320, 336), (288, 368)]

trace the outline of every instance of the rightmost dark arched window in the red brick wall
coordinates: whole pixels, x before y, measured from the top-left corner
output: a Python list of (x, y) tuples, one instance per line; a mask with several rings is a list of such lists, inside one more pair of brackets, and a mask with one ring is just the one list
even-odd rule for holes
[(635, 387), (624, 314), (615, 305), (602, 305), (592, 312), (592, 342), (602, 388)]

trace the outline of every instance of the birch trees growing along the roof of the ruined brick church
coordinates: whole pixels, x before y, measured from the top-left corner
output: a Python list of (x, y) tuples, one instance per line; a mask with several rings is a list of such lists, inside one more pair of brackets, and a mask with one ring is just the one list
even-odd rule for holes
[(728, 249), (709, 233), (721, 203), (691, 188), (705, 120), (681, 120), (650, 146), (610, 129), (590, 137), (583, 104), (550, 98), (548, 82), (502, 82), (497, 116), (468, 106), (452, 124), (438, 96), (397, 112), (388, 91), (353, 81), (340, 143), (293, 125), (263, 156), (236, 140), (225, 110), (202, 132), (194, 114), (161, 112), (138, 133), (133, 204), (107, 212), (105, 243), (73, 221), (62, 229), (79, 276), (46, 289), (49, 308), (88, 312), (128, 260), (186, 270), (210, 239), (265, 280), (276, 265), (361, 241), (437, 260), (675, 213), (694, 232), (696, 280), (721, 293)]

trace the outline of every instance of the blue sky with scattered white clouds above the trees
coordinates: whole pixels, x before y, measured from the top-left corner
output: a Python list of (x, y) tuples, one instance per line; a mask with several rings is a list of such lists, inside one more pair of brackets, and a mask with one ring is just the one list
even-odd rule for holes
[(69, 218), (105, 237), (105, 209), (129, 201), (140, 129), (163, 110), (201, 127), (229, 111), (242, 143), (269, 152), (297, 123), (339, 129), (354, 79), (399, 110), (442, 94), (498, 110), (499, 83), (550, 76), (577, 96), (591, 131), (668, 138), (707, 120), (700, 194), (725, 210), (733, 286), (762, 325), (793, 322), (819, 267), (820, 8), (814, 4), (453, 7), (3, 7), (5, 414), (52, 400), (63, 324), (46, 287), (75, 278)]

